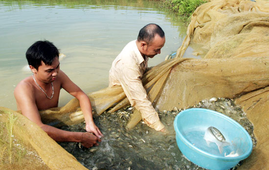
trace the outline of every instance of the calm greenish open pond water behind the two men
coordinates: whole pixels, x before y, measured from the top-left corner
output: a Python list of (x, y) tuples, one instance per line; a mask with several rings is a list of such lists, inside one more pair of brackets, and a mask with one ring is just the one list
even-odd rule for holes
[[(147, 0), (0, 0), (0, 106), (16, 110), (15, 86), (30, 71), (25, 52), (48, 40), (66, 57), (61, 69), (86, 93), (108, 86), (109, 69), (122, 48), (148, 23), (162, 27), (166, 43), (149, 66), (177, 50), (186, 26)], [(193, 49), (188, 48), (187, 57)], [(59, 106), (73, 97), (62, 90)]]

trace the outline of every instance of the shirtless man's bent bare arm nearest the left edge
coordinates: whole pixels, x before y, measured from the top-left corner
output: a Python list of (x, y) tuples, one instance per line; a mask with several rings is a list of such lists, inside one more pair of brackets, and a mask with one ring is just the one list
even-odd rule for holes
[(98, 146), (101, 140), (90, 133), (70, 132), (48, 126), (42, 123), (32, 88), (27, 83), (20, 83), (14, 90), (17, 106), (21, 109), (22, 115), (41, 127), (53, 140), (57, 142), (81, 142), (82, 146), (90, 148)]

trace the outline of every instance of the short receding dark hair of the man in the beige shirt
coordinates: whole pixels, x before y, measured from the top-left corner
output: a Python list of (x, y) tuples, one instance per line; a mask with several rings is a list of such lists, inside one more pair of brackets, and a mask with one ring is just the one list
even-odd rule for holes
[(150, 44), (153, 41), (156, 34), (159, 35), (161, 38), (164, 37), (164, 32), (159, 25), (155, 23), (149, 23), (142, 29), (140, 29), (137, 41), (138, 42), (144, 41)]

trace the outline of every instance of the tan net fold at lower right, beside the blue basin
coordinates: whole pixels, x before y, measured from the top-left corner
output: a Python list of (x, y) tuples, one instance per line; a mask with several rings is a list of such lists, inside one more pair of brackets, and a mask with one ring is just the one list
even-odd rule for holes
[(243, 106), (254, 125), (257, 145), (239, 170), (268, 170), (269, 159), (269, 87), (255, 90), (235, 100)]

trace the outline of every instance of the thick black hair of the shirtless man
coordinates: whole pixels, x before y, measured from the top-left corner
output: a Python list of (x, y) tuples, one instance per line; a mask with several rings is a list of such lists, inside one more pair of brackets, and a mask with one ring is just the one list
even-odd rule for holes
[(55, 57), (59, 57), (59, 50), (49, 41), (37, 41), (26, 51), (28, 64), (37, 70), (41, 61), (46, 65), (51, 65)]

